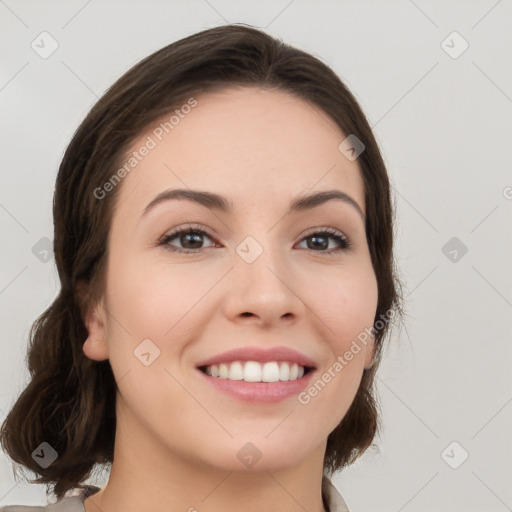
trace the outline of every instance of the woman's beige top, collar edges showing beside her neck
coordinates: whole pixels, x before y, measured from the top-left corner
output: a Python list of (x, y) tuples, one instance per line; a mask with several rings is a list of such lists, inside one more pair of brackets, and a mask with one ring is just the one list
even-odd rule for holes
[[(46, 505), (45, 507), (7, 505), (0, 507), (0, 512), (85, 512), (85, 499), (99, 490), (99, 487), (89, 485), (85, 488), (77, 488), (76, 490), (70, 491), (61, 500)], [(322, 478), (322, 496), (328, 506), (327, 512), (349, 512), (347, 504), (341, 497), (341, 494), (325, 475)]]

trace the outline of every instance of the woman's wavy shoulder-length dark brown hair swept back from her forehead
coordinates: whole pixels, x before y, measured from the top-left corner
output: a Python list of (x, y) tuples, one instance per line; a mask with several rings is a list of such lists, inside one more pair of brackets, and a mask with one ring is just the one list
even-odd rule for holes
[[(279, 89), (329, 115), (365, 145), (358, 163), (365, 186), (366, 236), (378, 283), (375, 322), (403, 314), (393, 259), (393, 209), (386, 168), (356, 99), (320, 60), (253, 27), (225, 25), (153, 53), (119, 78), (75, 132), (59, 168), (53, 202), (54, 252), (61, 290), (34, 322), (27, 355), (31, 380), (0, 431), (4, 451), (41, 475), (62, 498), (81, 487), (96, 464), (113, 460), (116, 382), (110, 363), (92, 361), (82, 346), (84, 314), (101, 296), (107, 240), (119, 188), (99, 200), (147, 127), (193, 94), (228, 86)], [(341, 141), (340, 141), (341, 142)], [(324, 468), (352, 463), (379, 430), (374, 377), (389, 322), (376, 330), (376, 363), (363, 373), (356, 397), (330, 433)], [(58, 458), (43, 468), (32, 456), (48, 443)], [(48, 492), (48, 490), (47, 490)]]

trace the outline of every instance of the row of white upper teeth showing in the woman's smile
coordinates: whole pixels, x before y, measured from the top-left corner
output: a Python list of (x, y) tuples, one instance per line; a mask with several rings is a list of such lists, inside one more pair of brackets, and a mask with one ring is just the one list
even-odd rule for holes
[(205, 373), (220, 379), (245, 380), (246, 382), (278, 382), (300, 379), (304, 376), (304, 367), (286, 361), (270, 361), (267, 363), (234, 361), (207, 366)]

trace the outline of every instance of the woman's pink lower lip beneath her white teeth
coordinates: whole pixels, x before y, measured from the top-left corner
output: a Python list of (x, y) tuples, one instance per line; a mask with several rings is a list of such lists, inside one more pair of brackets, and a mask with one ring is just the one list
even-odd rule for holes
[(246, 382), (245, 380), (211, 377), (199, 369), (197, 371), (214, 388), (244, 402), (279, 402), (297, 396), (309, 385), (315, 373), (314, 370), (310, 370), (306, 375), (296, 380)]

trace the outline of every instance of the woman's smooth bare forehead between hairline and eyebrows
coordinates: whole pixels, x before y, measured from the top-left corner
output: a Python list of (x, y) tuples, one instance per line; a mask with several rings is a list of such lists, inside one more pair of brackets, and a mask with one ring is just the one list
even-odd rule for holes
[(169, 112), (132, 144), (126, 159), (135, 151), (138, 160), (123, 179), (119, 208), (129, 205), (140, 215), (154, 196), (173, 188), (216, 192), (240, 208), (288, 205), (310, 189), (337, 188), (364, 212), (359, 165), (338, 149), (346, 135), (316, 105), (256, 87), (193, 99), (195, 106)]

